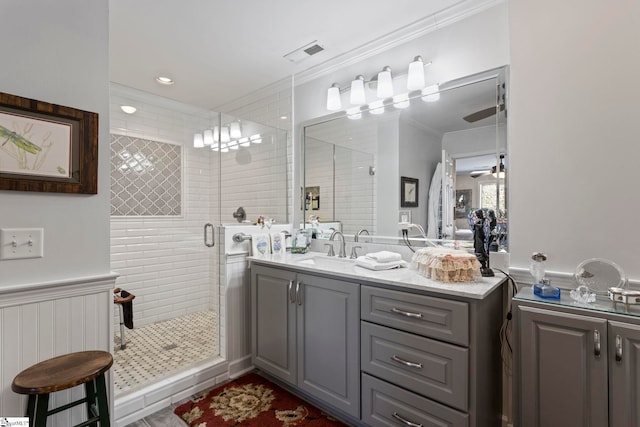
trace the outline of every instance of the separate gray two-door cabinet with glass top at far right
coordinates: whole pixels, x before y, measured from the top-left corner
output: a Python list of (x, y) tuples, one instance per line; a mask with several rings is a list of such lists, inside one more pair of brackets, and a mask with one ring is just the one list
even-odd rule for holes
[(640, 426), (640, 314), (617, 312), (606, 300), (576, 307), (521, 293), (514, 299), (517, 425)]

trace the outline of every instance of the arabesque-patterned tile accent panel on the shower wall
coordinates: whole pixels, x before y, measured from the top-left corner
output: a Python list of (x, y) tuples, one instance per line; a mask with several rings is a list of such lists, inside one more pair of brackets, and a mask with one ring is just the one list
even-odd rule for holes
[(111, 135), (111, 215), (182, 213), (181, 146)]

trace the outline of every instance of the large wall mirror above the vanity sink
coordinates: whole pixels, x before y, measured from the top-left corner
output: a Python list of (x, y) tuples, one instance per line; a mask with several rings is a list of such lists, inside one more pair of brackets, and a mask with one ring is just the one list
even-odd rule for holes
[(481, 209), (495, 215), (493, 250), (507, 250), (507, 72), (305, 126), (305, 227), (366, 229), (367, 239), (400, 243), (399, 223), (408, 223), (413, 237), (422, 228), (430, 239), (472, 247)]

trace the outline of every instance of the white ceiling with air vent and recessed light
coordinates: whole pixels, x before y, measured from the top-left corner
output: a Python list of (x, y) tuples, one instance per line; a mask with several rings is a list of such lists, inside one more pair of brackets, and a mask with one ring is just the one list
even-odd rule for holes
[[(110, 80), (216, 109), (471, 1), (110, 0)], [(316, 40), (324, 51), (284, 58)], [(157, 84), (159, 75), (175, 84)]]

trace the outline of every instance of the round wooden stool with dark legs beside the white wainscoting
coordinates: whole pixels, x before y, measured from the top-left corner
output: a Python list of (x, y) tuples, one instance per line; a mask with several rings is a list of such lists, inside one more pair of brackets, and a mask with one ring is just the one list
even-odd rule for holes
[[(45, 427), (47, 417), (82, 403), (87, 404), (87, 421), (75, 427), (109, 426), (109, 404), (104, 373), (113, 364), (111, 353), (81, 351), (42, 361), (20, 372), (11, 390), (28, 394), (27, 416), (31, 427)], [(49, 393), (84, 384), (85, 397), (49, 410)]]

